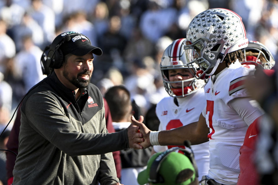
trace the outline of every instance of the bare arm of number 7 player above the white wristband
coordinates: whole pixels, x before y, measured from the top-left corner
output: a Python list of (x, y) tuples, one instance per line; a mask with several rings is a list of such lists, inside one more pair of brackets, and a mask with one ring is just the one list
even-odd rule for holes
[(208, 137), (206, 133), (197, 132), (197, 122), (172, 130), (163, 130), (158, 134), (160, 145), (184, 145), (185, 140), (189, 140), (191, 145), (197, 145), (208, 141)]

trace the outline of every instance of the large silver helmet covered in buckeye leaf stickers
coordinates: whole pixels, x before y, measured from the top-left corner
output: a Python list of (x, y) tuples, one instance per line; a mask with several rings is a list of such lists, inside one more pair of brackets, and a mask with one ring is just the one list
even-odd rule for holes
[[(248, 44), (242, 18), (223, 8), (206, 10), (193, 18), (186, 33), (187, 45), (197, 54), (189, 65), (196, 63), (204, 74), (211, 76), (227, 53), (245, 48)], [(212, 69), (209, 73), (208, 70)], [(208, 74), (209, 73), (209, 74)]]

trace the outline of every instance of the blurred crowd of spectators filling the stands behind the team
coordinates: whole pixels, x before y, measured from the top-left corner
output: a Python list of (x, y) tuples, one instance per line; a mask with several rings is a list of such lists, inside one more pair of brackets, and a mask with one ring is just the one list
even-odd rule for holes
[(266, 45), (277, 61), (277, 0), (1, 0), (0, 131), (25, 93), (45, 77), (44, 48), (67, 31), (85, 34), (103, 50), (92, 77), (103, 95), (124, 84), (151, 119), (156, 103), (168, 96), (159, 69), (164, 49), (185, 38), (190, 21), (209, 8), (239, 14), (248, 39)]

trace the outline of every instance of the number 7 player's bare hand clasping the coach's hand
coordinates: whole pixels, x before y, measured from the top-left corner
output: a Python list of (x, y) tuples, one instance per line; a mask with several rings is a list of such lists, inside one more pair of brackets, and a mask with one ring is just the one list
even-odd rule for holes
[(131, 116), (131, 123), (138, 126), (140, 133), (143, 134), (144, 140), (140, 142), (140, 145), (144, 148), (147, 148), (151, 146), (150, 137), (149, 137), (151, 130), (148, 129), (144, 123), (142, 123), (143, 120), (144, 120), (143, 116), (140, 116), (140, 119), (138, 121), (133, 116)]

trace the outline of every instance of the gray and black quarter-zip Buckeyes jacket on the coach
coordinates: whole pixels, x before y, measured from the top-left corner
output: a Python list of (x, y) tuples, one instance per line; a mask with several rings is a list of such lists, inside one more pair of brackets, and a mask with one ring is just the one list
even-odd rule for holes
[(82, 90), (76, 101), (53, 72), (24, 98), (14, 185), (119, 182), (110, 152), (128, 148), (127, 130), (108, 133), (100, 91)]

